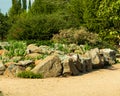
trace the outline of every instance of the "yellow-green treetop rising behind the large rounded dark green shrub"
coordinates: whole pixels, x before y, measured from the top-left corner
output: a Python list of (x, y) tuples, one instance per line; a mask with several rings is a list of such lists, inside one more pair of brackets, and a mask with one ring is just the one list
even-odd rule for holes
[(52, 14), (63, 8), (65, 3), (65, 0), (35, 0), (31, 7), (31, 13), (33, 15)]

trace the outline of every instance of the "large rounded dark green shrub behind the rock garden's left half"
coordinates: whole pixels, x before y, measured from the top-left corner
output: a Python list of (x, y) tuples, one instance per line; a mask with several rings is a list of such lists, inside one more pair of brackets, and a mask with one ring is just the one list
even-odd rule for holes
[(59, 14), (20, 18), (9, 30), (8, 38), (15, 40), (50, 40), (64, 25)]

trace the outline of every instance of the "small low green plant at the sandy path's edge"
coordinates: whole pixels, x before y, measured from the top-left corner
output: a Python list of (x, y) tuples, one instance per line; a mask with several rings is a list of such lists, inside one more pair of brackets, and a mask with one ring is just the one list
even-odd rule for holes
[(21, 78), (43, 78), (43, 76), (41, 74), (35, 74), (31, 71), (23, 71), (17, 74), (17, 77), (21, 77)]

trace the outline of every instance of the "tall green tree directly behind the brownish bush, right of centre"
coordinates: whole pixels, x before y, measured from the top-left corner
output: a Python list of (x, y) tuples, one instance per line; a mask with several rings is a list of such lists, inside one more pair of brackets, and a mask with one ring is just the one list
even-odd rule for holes
[[(67, 6), (72, 27), (85, 26), (90, 31), (96, 31), (99, 20), (96, 12), (101, 0), (70, 0)], [(69, 21), (70, 21), (69, 20)]]

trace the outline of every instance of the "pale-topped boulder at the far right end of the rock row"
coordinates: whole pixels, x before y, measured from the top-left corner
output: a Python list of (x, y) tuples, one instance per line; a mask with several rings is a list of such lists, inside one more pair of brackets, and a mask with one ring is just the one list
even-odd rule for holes
[(101, 49), (100, 53), (103, 54), (105, 64), (115, 64), (116, 63), (116, 51), (112, 49)]

